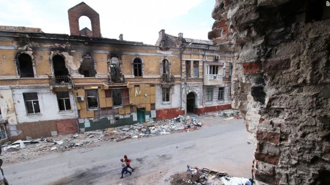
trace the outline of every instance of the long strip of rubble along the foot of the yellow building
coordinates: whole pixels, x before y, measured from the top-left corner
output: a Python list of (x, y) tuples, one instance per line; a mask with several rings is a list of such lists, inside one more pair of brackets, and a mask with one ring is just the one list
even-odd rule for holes
[(189, 132), (202, 126), (194, 117), (179, 115), (173, 119), (136, 123), (116, 128), (58, 135), (49, 138), (17, 140), (3, 145), (3, 160), (6, 163), (27, 161), (51, 152), (64, 152), (77, 147), (93, 147), (99, 141), (123, 141), (174, 132)]

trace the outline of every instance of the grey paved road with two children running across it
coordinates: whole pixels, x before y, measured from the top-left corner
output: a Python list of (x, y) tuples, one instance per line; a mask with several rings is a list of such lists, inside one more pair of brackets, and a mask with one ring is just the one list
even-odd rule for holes
[[(121, 142), (98, 142), (11, 166), (4, 164), (10, 184), (169, 184), (169, 177), (186, 165), (226, 170), (250, 177), (253, 143), (243, 119), (196, 117), (204, 126), (194, 132), (175, 133)], [(250, 144), (249, 144), (250, 143)], [(126, 154), (136, 170), (123, 179), (119, 159)]]

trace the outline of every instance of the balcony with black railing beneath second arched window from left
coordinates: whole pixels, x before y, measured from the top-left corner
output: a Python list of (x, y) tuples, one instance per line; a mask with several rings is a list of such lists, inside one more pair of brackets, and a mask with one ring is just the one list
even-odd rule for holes
[(49, 89), (52, 91), (68, 91), (72, 89), (72, 79), (69, 76), (48, 76)]

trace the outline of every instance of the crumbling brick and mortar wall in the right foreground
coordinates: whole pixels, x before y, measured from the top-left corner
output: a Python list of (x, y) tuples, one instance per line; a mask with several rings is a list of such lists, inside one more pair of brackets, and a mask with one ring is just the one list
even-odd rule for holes
[(326, 1), (216, 0), (209, 39), (235, 51), (232, 107), (255, 139), (259, 184), (330, 184), (328, 12)]

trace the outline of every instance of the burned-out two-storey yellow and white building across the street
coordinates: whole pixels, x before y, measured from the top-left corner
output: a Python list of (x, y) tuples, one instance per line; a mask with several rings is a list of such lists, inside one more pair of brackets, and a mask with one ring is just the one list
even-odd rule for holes
[[(231, 53), (216, 53), (210, 41), (154, 46), (122, 34), (103, 38), (99, 14), (83, 2), (68, 15), (70, 35), (0, 26), (0, 109), (10, 139), (174, 118), (186, 104), (197, 114), (230, 108)], [(79, 28), (83, 15), (91, 30)], [(209, 81), (207, 95), (203, 70), (213, 63), (208, 71), (216, 83)]]

